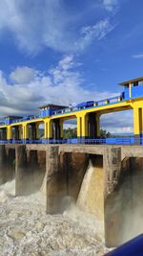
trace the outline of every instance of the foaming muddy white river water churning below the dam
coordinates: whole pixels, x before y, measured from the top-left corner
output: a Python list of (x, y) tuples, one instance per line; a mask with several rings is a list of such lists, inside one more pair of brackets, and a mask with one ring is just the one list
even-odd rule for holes
[(14, 180), (0, 186), (0, 256), (97, 255), (107, 252), (93, 216), (72, 203), (45, 214), (45, 196), (14, 197)]

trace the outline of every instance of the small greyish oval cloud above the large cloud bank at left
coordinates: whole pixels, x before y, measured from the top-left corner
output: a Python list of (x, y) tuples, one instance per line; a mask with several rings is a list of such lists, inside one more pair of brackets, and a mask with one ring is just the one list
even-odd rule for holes
[(10, 73), (10, 80), (16, 83), (29, 83), (34, 79), (35, 70), (33, 68), (22, 66), (17, 67)]

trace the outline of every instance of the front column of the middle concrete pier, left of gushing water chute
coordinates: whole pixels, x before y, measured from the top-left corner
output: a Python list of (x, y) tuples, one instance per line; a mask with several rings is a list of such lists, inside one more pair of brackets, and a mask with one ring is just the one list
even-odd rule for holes
[(47, 213), (56, 214), (61, 210), (62, 198), (66, 195), (66, 176), (60, 169), (58, 146), (46, 151), (47, 172)]

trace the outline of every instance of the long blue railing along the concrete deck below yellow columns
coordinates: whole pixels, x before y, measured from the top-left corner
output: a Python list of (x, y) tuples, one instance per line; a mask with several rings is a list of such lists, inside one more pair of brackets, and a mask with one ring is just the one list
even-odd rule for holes
[(105, 139), (39, 139), (39, 140), (0, 140), (0, 144), (86, 144), (86, 145), (143, 145), (143, 138), (105, 138)]

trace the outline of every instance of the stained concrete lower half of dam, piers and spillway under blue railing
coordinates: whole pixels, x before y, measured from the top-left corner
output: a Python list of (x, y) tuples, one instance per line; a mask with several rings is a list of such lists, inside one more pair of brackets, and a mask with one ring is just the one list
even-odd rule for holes
[(127, 213), (142, 198), (142, 159), (139, 146), (0, 145), (0, 184), (15, 167), (16, 196), (42, 186), (49, 214), (64, 211), (70, 197), (102, 223), (105, 244), (116, 246), (125, 242)]

